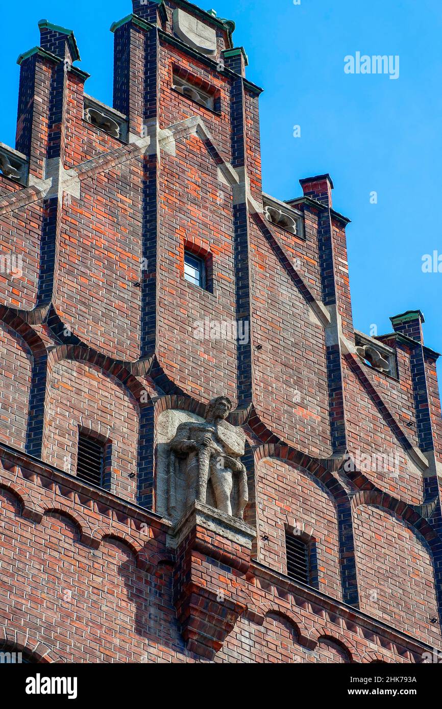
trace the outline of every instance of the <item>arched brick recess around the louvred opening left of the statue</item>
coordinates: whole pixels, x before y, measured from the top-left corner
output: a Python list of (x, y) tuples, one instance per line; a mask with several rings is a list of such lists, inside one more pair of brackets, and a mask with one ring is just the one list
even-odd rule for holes
[[(78, 430), (85, 423), (97, 432), (106, 430), (106, 487), (118, 496), (136, 501), (136, 473), (146, 464), (140, 454), (145, 438), (141, 411), (150, 411), (150, 396), (123, 367), (93, 350), (62, 345), (48, 358), (43, 459), (74, 474)], [(140, 399), (143, 398), (143, 401)], [(123, 418), (126, 430), (119, 425)], [(107, 440), (107, 439), (106, 439)]]

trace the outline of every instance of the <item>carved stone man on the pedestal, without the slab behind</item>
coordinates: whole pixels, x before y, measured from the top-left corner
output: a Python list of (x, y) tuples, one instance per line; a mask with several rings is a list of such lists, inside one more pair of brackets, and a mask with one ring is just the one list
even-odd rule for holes
[[(185, 508), (195, 500), (207, 500), (208, 485), (214, 493), (213, 505), (228, 515), (243, 519), (248, 503), (247, 473), (240, 457), (244, 454), (245, 435), (226, 421), (232, 404), (226, 396), (217, 396), (207, 406), (206, 420), (180, 423), (170, 441), (168, 471), (168, 508), (176, 508), (175, 484), (179, 477), (179, 460), (184, 459)], [(236, 510), (232, 513), (231, 493), (234, 476), (238, 481)]]

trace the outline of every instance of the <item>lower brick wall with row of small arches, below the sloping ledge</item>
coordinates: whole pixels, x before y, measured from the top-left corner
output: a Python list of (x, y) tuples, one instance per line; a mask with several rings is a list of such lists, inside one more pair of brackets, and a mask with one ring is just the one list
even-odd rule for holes
[[(43, 467), (0, 470), (1, 630), (52, 661), (201, 661), (179, 635), (164, 523)], [(226, 575), (199, 558), (206, 579)], [(421, 659), (419, 644), (263, 567), (232, 578), (247, 610), (216, 662)]]

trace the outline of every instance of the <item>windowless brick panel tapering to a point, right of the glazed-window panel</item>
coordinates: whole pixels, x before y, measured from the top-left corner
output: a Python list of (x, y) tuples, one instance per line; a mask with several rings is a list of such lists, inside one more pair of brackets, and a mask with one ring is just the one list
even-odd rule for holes
[(255, 407), (282, 440), (327, 457), (331, 448), (324, 328), (311, 321), (304, 297), (255, 224), (250, 257), (253, 346), (262, 346), (253, 350)]

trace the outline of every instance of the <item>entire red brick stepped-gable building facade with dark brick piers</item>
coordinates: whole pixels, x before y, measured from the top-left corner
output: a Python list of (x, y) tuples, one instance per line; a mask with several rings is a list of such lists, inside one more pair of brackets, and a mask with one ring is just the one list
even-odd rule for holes
[[(438, 354), (420, 311), (354, 330), (328, 174), (297, 199), (263, 194), (261, 89), (234, 23), (133, 0), (111, 27), (112, 108), (85, 93), (72, 31), (39, 28), (18, 60), (16, 147), (0, 144), (0, 649), (442, 649)], [(204, 427), (217, 396), (243, 445), (243, 519), (234, 472), (232, 514), (214, 476), (177, 502), (177, 426)], [(81, 445), (101, 456), (95, 482)]]

